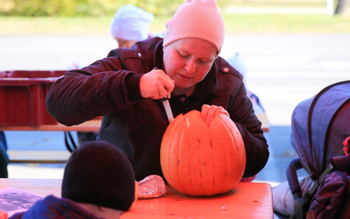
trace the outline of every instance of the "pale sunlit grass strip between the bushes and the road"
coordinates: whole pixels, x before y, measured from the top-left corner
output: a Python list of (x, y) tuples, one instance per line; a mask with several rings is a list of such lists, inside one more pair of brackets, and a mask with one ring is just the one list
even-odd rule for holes
[[(350, 16), (223, 15), (226, 33), (350, 32)], [(155, 17), (151, 33), (165, 31), (171, 17)], [(0, 17), (0, 34), (109, 34), (112, 17)]]

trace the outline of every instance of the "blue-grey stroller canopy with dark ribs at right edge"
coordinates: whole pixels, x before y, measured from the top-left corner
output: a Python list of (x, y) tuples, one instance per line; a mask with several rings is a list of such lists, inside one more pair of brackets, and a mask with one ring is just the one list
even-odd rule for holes
[(350, 81), (323, 89), (293, 111), (291, 143), (309, 173), (322, 174), (349, 136)]

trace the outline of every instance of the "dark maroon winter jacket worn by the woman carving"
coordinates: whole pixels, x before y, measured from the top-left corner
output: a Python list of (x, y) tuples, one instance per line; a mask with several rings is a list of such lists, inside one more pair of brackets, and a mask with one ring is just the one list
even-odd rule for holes
[[(154, 174), (163, 177), (160, 144), (169, 121), (161, 100), (140, 94), (140, 77), (155, 67), (162, 69), (162, 45), (162, 38), (154, 37), (136, 43), (132, 49), (112, 50), (88, 67), (65, 73), (46, 98), (50, 114), (66, 126), (104, 116), (97, 139), (123, 149), (133, 164), (137, 181)], [(217, 57), (191, 96), (171, 95), (169, 102), (174, 118), (191, 110), (201, 111), (204, 104), (227, 110), (242, 134), (246, 152), (244, 177), (250, 177), (265, 166), (269, 151), (242, 79), (226, 60)]]

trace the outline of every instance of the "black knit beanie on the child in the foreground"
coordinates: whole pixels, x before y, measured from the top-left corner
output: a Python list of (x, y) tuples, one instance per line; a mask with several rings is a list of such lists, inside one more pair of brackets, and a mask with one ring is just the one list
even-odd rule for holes
[(106, 141), (79, 146), (68, 160), (62, 197), (128, 211), (135, 198), (135, 175), (124, 152)]

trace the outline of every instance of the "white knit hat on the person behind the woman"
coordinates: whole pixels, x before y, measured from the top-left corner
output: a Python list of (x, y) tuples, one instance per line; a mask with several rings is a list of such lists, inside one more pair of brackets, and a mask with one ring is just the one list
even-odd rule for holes
[(119, 8), (114, 14), (110, 24), (110, 31), (115, 38), (141, 41), (148, 38), (152, 20), (152, 13), (127, 4)]

